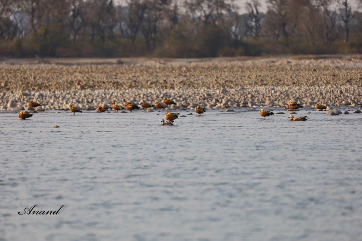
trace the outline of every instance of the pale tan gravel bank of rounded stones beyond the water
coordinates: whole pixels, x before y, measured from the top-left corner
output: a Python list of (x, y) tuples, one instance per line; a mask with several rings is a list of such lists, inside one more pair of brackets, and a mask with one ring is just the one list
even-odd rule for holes
[(47, 59), (0, 61), (0, 110), (45, 109), (161, 101), (202, 105), (357, 106), (362, 100), (361, 56), (217, 59)]

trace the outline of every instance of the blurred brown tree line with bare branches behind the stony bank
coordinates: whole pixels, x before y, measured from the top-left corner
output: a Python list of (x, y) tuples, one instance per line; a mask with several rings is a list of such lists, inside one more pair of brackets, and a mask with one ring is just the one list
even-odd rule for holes
[[(362, 0), (0, 0), (0, 56), (362, 53)], [(246, 13), (245, 13), (246, 10)]]

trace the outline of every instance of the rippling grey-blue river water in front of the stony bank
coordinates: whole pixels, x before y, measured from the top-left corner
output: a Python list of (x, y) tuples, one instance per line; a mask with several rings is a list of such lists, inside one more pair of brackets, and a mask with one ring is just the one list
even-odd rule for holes
[(352, 111), (2, 112), (0, 240), (360, 241)]

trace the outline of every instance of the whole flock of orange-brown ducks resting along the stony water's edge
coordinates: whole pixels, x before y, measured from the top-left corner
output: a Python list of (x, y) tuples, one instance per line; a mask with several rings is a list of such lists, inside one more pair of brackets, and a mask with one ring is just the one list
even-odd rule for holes
[[(118, 104), (116, 104), (115, 100), (112, 100), (111, 101), (113, 104), (112, 104), (112, 108), (114, 110), (116, 110), (117, 112), (119, 110), (122, 110), (122, 109), (127, 109), (129, 110), (130, 112), (132, 112), (134, 109), (140, 109), (140, 107), (134, 103), (131, 103), (131, 102), (126, 102), (126, 99), (123, 99), (123, 104), (125, 107), (122, 107), (122, 106), (119, 106)], [(139, 103), (140, 106), (142, 106), (143, 108), (159, 108), (159, 109), (165, 109), (167, 107), (170, 107), (172, 104), (176, 104), (176, 102), (174, 102), (173, 100), (170, 100), (170, 99), (167, 99), (166, 97), (164, 97), (163, 99), (163, 103), (160, 103), (160, 102), (157, 102), (157, 100), (155, 100), (155, 104), (149, 104), (149, 103), (145, 103), (145, 102), (140, 102)], [(41, 104), (37, 103), (37, 102), (33, 102), (33, 101), (30, 101), (28, 103), (28, 105), (30, 107), (33, 107), (34, 111), (35, 111), (35, 107), (38, 107), (38, 106), (42, 106)], [(299, 109), (299, 108), (302, 108), (303, 106), (292, 101), (292, 100), (289, 100), (288, 103), (287, 103), (288, 106), (285, 107), (285, 109), (291, 109), (291, 110), (296, 110), (296, 109)], [(315, 105), (315, 108), (318, 110), (318, 109), (325, 109), (327, 108), (326, 106), (323, 106), (321, 104), (316, 104)], [(362, 104), (359, 104), (359, 108), (362, 109)], [(197, 106), (195, 107), (195, 112), (201, 116), (201, 114), (203, 114), (204, 112), (206, 112), (206, 109), (207, 108), (203, 108), (201, 106)], [(82, 113), (82, 111), (76, 107), (76, 106), (73, 106), (72, 103), (69, 104), (69, 110), (71, 112), (73, 112), (73, 115), (75, 115), (76, 112), (80, 112)], [(105, 112), (105, 111), (108, 111), (108, 109), (106, 108), (103, 108), (103, 106), (98, 106), (96, 108), (96, 111), (99, 111), (99, 112)], [(165, 119), (167, 121), (165, 121), (164, 119), (161, 120), (162, 122), (162, 125), (172, 125), (174, 120), (176, 120), (178, 118), (178, 116), (180, 115), (180, 113), (173, 113), (173, 112), (166, 112), (165, 113)], [(259, 115), (261, 115), (262, 117), (264, 117), (264, 120), (266, 119), (267, 116), (271, 116), (271, 115), (274, 115), (273, 112), (271, 111), (266, 111), (264, 109), (261, 109), (259, 111)], [(26, 118), (29, 118), (33, 116), (32, 114), (30, 114), (28, 111), (21, 111), (18, 115), (18, 117), (20, 119), (26, 119)], [(309, 118), (307, 118), (307, 116), (302, 116), (302, 117), (296, 117), (294, 118), (294, 116), (290, 115), (289, 116), (290, 120), (291, 121), (306, 121), (306, 120), (309, 120)]]

